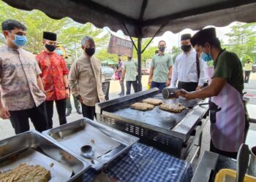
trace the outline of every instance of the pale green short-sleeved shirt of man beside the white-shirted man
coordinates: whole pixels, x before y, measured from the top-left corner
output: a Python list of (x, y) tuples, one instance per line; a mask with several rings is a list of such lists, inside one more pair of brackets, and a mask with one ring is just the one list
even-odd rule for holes
[(151, 67), (154, 67), (152, 81), (167, 82), (170, 66), (173, 66), (173, 59), (170, 55), (155, 55), (151, 61)]

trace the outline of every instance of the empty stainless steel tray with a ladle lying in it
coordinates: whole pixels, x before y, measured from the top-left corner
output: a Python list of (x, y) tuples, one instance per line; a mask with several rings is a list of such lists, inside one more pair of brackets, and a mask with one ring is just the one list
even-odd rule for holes
[[(83, 161), (91, 162), (91, 167), (96, 170), (128, 152), (132, 144), (138, 141), (132, 135), (86, 118), (46, 130), (43, 135), (72, 151)], [(80, 148), (85, 145), (93, 146), (95, 155), (92, 159), (81, 154)]]

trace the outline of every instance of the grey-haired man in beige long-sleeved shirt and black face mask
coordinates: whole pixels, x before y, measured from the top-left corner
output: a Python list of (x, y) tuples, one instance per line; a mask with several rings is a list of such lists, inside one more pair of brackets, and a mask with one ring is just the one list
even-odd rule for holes
[(91, 36), (81, 41), (83, 55), (76, 59), (69, 72), (69, 87), (72, 95), (82, 104), (83, 116), (94, 119), (95, 104), (105, 101), (102, 91), (101, 65), (95, 58), (95, 43)]

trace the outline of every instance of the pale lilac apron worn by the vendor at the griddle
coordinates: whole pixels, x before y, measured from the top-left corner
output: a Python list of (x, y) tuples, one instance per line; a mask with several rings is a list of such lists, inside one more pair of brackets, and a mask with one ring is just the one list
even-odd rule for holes
[(242, 95), (226, 83), (209, 101), (211, 140), (215, 148), (237, 152), (244, 141), (245, 111)]

